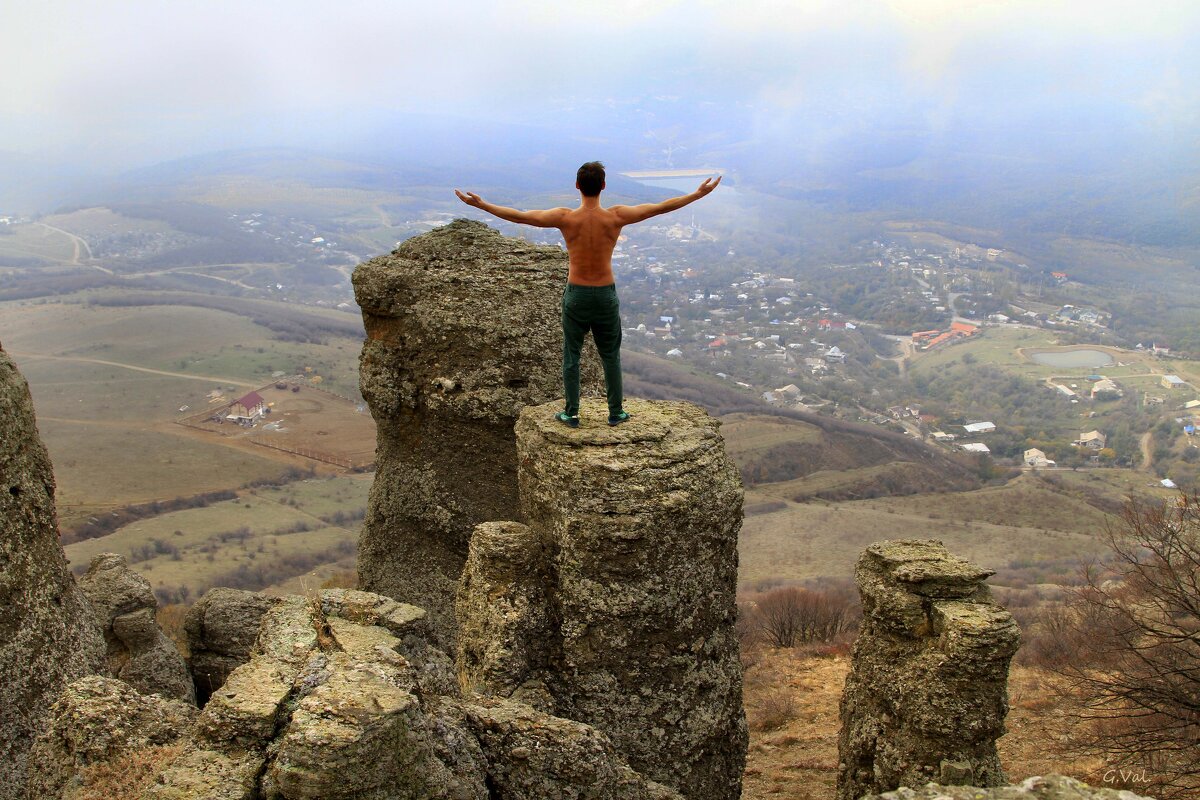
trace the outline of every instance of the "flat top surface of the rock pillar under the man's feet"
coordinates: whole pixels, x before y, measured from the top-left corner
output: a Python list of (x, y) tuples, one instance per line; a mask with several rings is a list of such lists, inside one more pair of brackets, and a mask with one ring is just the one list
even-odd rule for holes
[(529, 405), (521, 410), (518, 431), (533, 432), (546, 441), (570, 447), (614, 446), (638, 443), (662, 443), (668, 437), (710, 438), (716, 435), (716, 420), (698, 405), (629, 398), (625, 411), (630, 419), (608, 425), (608, 405), (599, 398), (580, 403), (580, 427), (570, 428), (554, 419), (563, 410), (562, 401)]

